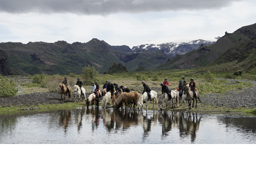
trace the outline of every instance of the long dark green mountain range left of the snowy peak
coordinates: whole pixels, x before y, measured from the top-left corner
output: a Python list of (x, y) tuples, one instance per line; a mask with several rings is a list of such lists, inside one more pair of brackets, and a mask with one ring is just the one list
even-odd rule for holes
[(65, 41), (55, 43), (29, 42), (0, 43), (0, 50), (8, 55), (7, 65), (12, 74), (81, 74), (83, 67), (94, 66), (104, 73), (114, 62), (123, 63), (128, 70), (139, 66), (156, 69), (167, 61), (162, 51), (127, 54), (128, 46), (110, 46), (106, 42), (92, 39), (87, 43)]

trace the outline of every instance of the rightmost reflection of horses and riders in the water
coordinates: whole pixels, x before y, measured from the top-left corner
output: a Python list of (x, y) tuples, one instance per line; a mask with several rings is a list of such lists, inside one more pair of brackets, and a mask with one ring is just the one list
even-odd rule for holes
[(194, 113), (187, 113), (186, 119), (184, 115), (181, 115), (179, 119), (180, 137), (184, 138), (187, 135), (191, 135), (191, 142), (194, 142), (197, 138), (197, 131), (199, 130), (201, 119), (202, 117), (198, 119), (197, 114)]

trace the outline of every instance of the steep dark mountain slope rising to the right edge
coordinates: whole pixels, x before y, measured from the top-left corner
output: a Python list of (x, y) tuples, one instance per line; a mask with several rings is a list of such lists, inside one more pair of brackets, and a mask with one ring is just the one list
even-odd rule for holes
[[(206, 65), (221, 65), (227, 62), (242, 62), (254, 53), (254, 40), (256, 37), (256, 23), (241, 27), (234, 33), (227, 33), (216, 43), (209, 46), (201, 46), (197, 50), (185, 55), (177, 55), (165, 65), (158, 67), (163, 69), (191, 69)], [(253, 57), (253, 55), (251, 55)]]

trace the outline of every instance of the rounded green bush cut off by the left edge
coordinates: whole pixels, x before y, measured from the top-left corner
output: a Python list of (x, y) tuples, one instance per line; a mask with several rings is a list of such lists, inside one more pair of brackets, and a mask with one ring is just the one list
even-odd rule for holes
[(0, 97), (13, 97), (17, 95), (17, 85), (13, 80), (9, 80), (6, 77), (0, 75)]

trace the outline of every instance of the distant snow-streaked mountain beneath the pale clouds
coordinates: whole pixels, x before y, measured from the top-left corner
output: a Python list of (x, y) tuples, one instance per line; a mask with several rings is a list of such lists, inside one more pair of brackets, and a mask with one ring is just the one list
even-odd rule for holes
[(135, 46), (133, 49), (133, 53), (141, 53), (143, 51), (156, 51), (156, 50), (163, 50), (165, 51), (165, 54), (173, 58), (177, 54), (183, 55), (186, 54), (192, 50), (198, 49), (202, 44), (203, 45), (211, 45), (215, 42), (212, 41), (206, 41), (206, 40), (195, 40), (195, 41), (189, 41), (189, 42), (172, 42), (172, 43), (162, 43), (162, 44), (145, 44), (141, 46)]

